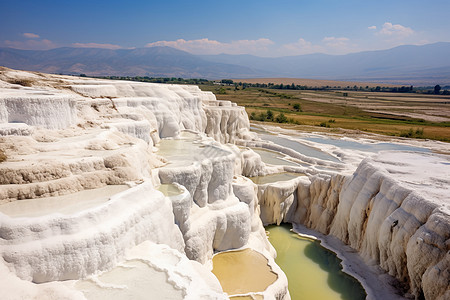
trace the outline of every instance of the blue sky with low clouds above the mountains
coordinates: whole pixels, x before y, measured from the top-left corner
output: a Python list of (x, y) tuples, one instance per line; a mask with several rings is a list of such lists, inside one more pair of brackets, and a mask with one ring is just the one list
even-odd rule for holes
[(0, 0), (0, 46), (345, 54), (450, 41), (448, 0)]

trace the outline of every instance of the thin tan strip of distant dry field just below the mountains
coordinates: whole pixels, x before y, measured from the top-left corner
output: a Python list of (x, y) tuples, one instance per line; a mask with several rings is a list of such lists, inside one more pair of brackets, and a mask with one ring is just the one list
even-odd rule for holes
[(369, 88), (380, 87), (399, 87), (401, 85), (386, 84), (386, 83), (370, 83), (370, 82), (356, 82), (356, 81), (336, 81), (336, 80), (321, 80), (321, 79), (304, 79), (304, 78), (247, 78), (247, 79), (233, 79), (234, 82), (246, 82), (246, 83), (273, 83), (273, 84), (295, 84), (306, 85), (309, 87), (337, 87), (345, 88), (347, 86), (362, 86)]

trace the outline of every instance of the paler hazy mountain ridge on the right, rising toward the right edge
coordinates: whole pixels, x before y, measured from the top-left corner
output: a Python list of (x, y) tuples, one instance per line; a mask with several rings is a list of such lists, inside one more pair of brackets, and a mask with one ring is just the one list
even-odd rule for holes
[[(399, 46), (346, 55), (307, 54), (279, 58), (209, 55), (204, 59), (270, 70), (270, 77), (432, 84), (450, 82), (450, 43)], [(406, 81), (406, 82), (405, 82)]]

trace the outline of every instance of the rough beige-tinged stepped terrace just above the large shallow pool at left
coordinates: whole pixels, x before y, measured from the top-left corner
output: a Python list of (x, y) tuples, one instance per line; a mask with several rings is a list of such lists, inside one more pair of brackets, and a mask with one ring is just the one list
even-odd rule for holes
[(147, 143), (116, 129), (39, 129), (0, 140), (8, 157), (0, 164), (0, 204), (141, 180), (162, 164)]

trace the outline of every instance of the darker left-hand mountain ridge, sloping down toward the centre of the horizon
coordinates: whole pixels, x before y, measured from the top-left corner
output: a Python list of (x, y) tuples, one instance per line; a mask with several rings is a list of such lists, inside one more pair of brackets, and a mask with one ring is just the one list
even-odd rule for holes
[(260, 75), (248, 67), (206, 61), (170, 47), (140, 49), (56, 48), (47, 51), (0, 48), (0, 65), (31, 71), (123, 76), (231, 77)]

